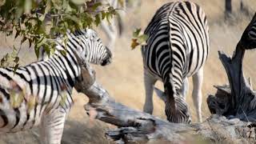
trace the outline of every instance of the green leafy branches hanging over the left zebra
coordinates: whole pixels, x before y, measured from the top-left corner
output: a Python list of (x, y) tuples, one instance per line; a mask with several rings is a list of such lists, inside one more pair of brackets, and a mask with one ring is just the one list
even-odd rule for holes
[[(55, 38), (62, 35), (66, 42), (66, 31), (82, 30), (98, 26), (103, 19), (113, 17), (117, 11), (108, 3), (91, 0), (0, 0), (0, 31), (22, 38), (21, 44), (34, 44), (38, 57), (39, 49), (52, 54)], [(17, 57), (17, 56), (16, 56)], [(15, 58), (16, 58), (15, 57)], [(10, 58), (2, 58), (1, 66)], [(12, 61), (18, 63), (18, 57)], [(15, 65), (17, 66), (17, 65)]]

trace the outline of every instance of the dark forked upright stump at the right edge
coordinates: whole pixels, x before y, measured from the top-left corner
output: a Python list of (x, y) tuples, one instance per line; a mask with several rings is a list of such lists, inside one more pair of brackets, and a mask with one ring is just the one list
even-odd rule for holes
[(212, 114), (227, 118), (239, 118), (246, 122), (256, 122), (256, 93), (252, 84), (244, 78), (242, 59), (246, 50), (256, 48), (256, 15), (247, 26), (238, 42), (232, 58), (219, 52), (219, 58), (225, 67), (230, 86), (215, 86), (215, 96), (210, 95), (207, 103)]

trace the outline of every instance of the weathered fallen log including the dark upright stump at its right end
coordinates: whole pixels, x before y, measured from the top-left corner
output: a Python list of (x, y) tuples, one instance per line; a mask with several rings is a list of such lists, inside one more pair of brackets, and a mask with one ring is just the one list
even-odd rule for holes
[(90, 99), (85, 106), (87, 114), (94, 114), (95, 118), (118, 126), (115, 130), (106, 132), (106, 138), (117, 143), (198, 142), (198, 139), (210, 142), (256, 142), (256, 125), (253, 123), (256, 118), (255, 92), (242, 73), (245, 50), (256, 47), (254, 34), (250, 33), (256, 30), (253, 28), (256, 26), (255, 21), (256, 14), (242, 34), (232, 58), (219, 53), (230, 87), (216, 86), (217, 94), (210, 95), (207, 99), (210, 111), (214, 115), (205, 122), (192, 125), (170, 123), (115, 102), (114, 98), (95, 81), (94, 70), (83, 62), (80, 62), (82, 75), (75, 84), (75, 89)]

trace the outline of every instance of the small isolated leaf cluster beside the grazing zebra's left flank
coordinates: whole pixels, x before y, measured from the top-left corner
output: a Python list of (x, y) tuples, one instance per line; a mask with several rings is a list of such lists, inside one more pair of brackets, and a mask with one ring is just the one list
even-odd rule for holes
[(131, 49), (134, 50), (137, 46), (145, 46), (146, 39), (148, 36), (146, 34), (141, 34), (142, 29), (136, 29), (133, 33), (133, 38), (131, 41)]

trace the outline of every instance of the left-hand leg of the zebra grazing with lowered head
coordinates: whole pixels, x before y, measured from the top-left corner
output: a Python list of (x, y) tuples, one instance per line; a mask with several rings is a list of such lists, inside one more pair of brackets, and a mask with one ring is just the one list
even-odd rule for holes
[(145, 98), (145, 104), (143, 107), (143, 111), (152, 114), (153, 113), (153, 90), (154, 90), (154, 83), (157, 81), (156, 78), (151, 76), (151, 74), (148, 74), (146, 71), (144, 71), (144, 85), (145, 85), (145, 91), (146, 91), (146, 98)]

